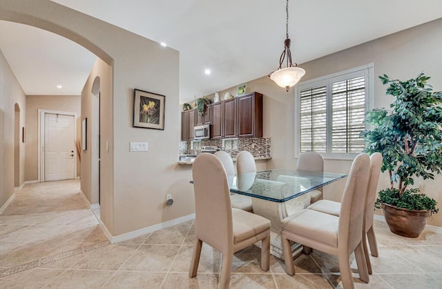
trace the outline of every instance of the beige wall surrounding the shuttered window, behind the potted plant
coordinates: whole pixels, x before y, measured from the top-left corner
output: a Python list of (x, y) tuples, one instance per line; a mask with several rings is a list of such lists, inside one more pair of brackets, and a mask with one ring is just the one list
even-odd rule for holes
[[(314, 61), (300, 64), (307, 73), (302, 81), (323, 77), (327, 74), (348, 70), (368, 63), (374, 63), (374, 107), (388, 107), (391, 97), (385, 97), (385, 86), (378, 80), (384, 73), (395, 79), (410, 79), (420, 72), (432, 77), (430, 83), (435, 90), (442, 90), (442, 19), (416, 26), (360, 46), (327, 55)], [(296, 55), (294, 55), (296, 60)], [(277, 59), (276, 59), (277, 60)], [(301, 82), (302, 82), (301, 81)], [(271, 137), (272, 159), (269, 168), (294, 168), (294, 89), (288, 93), (273, 83), (269, 77), (247, 82), (247, 92), (258, 91), (264, 94), (264, 137)], [(236, 86), (220, 91), (236, 93)], [(348, 172), (351, 161), (328, 159), (325, 170), (329, 172)], [(340, 200), (345, 181), (338, 181), (324, 188), (327, 199)], [(378, 189), (389, 186), (388, 175), (381, 177)], [(417, 181), (416, 187), (436, 199), (442, 208), (442, 177), (434, 181)], [(376, 211), (382, 214), (381, 210)], [(442, 226), (442, 213), (429, 219), (433, 226)]]

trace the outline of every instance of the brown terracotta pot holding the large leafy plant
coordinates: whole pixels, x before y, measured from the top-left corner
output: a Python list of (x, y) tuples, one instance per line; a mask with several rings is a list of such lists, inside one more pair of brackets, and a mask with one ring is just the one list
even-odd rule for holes
[(425, 229), (430, 210), (407, 210), (382, 203), (385, 221), (390, 231), (403, 237), (417, 238)]

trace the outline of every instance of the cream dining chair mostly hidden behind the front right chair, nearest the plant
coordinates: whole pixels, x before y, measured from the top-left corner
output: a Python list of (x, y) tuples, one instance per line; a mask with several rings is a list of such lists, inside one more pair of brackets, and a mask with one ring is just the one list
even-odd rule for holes
[[(370, 246), (370, 252), (372, 256), (378, 257), (378, 244), (376, 242), (376, 235), (373, 229), (374, 218), (374, 201), (376, 200), (376, 188), (378, 188), (379, 175), (381, 175), (382, 155), (379, 152), (375, 152), (370, 157), (370, 171), (369, 181), (367, 188), (367, 199), (365, 200), (365, 219), (363, 228), (363, 246), (365, 253), (365, 261), (367, 261), (368, 273), (372, 274), (372, 263), (368, 255), (367, 239)], [(325, 212), (330, 215), (339, 217), (340, 203), (331, 200), (320, 200), (308, 207), (311, 210), (318, 212)]]

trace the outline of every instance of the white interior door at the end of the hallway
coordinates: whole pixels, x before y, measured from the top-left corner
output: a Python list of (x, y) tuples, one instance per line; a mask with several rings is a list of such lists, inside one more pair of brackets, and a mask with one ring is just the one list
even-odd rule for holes
[(44, 115), (44, 180), (75, 179), (75, 117)]

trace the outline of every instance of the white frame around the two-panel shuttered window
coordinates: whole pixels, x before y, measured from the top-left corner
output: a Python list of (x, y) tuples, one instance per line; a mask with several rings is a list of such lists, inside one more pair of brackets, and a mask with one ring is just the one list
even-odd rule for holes
[[(326, 108), (326, 152), (322, 153), (324, 159), (348, 159), (352, 160), (358, 153), (332, 152), (332, 83), (365, 76), (365, 112), (374, 108), (374, 63), (358, 66), (349, 70), (343, 70), (333, 74), (327, 74), (316, 79), (309, 79), (298, 83), (295, 87), (295, 158), (300, 154), (300, 92), (318, 86), (327, 86), (327, 108)], [(367, 125), (365, 125), (367, 128)]]

